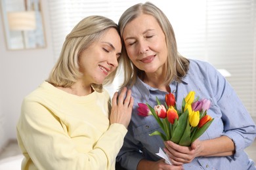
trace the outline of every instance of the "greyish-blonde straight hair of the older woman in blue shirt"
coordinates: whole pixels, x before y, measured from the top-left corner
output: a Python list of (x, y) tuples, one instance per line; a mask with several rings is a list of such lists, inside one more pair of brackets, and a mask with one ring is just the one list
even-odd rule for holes
[[(189, 60), (179, 54), (173, 27), (171, 26), (167, 16), (165, 16), (165, 14), (160, 9), (158, 9), (158, 7), (150, 2), (146, 2), (138, 3), (137, 5), (133, 5), (129, 9), (125, 10), (125, 12), (123, 12), (119, 18), (118, 22), (122, 39), (125, 26), (141, 14), (149, 14), (154, 16), (154, 18), (156, 18), (158, 21), (161, 29), (163, 30), (163, 33), (165, 34), (165, 41), (167, 44), (167, 62), (165, 63), (167, 64), (167, 76), (164, 83), (169, 84), (173, 80), (181, 82), (182, 77), (185, 76), (188, 71)], [(123, 69), (125, 70), (124, 80), (121, 87), (128, 85), (133, 86), (137, 80), (137, 76), (139, 76), (139, 78), (144, 77), (144, 71), (138, 69), (127, 56), (124, 43), (122, 48), (122, 58), (120, 62), (121, 65), (123, 65)]]

